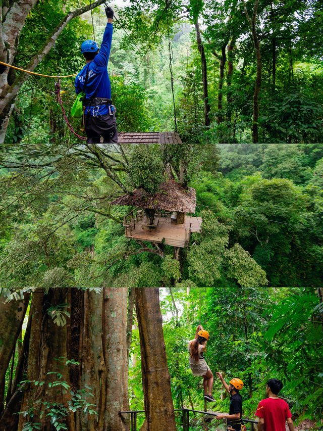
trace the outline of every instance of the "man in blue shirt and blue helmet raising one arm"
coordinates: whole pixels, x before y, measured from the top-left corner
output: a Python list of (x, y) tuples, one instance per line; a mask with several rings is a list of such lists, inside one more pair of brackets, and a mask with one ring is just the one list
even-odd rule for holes
[(94, 40), (85, 40), (81, 45), (86, 65), (75, 78), (75, 91), (85, 92), (84, 127), (87, 143), (118, 142), (116, 108), (112, 105), (111, 84), (107, 73), (107, 62), (112, 43), (113, 10), (105, 8), (107, 24), (99, 49)]

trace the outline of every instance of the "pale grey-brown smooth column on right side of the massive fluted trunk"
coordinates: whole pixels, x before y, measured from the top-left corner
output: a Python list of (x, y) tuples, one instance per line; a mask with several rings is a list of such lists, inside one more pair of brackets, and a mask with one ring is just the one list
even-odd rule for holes
[(127, 357), (127, 289), (103, 289), (103, 356), (106, 367), (104, 431), (126, 431), (120, 411), (125, 411)]

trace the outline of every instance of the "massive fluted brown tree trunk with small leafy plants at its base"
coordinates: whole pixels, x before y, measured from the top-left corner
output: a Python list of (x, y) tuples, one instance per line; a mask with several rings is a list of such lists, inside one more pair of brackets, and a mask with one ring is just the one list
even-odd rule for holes
[[(66, 302), (72, 304), (71, 319), (67, 319), (65, 326), (57, 326), (48, 316), (47, 309)], [(6, 304), (6, 307), (12, 308), (13, 304), (15, 302)], [(8, 328), (9, 317), (18, 317), (15, 313), (17, 303), (9, 317), (3, 302), (0, 303), (0, 310), (0, 319), (4, 319), (0, 322)], [(32, 297), (10, 399), (4, 415), (0, 417), (0, 429), (21, 431), (23, 425), (31, 420), (41, 423), (42, 431), (52, 431), (53, 425), (45, 414), (40, 417), (41, 410), (48, 412), (50, 407), (43, 404), (48, 402), (51, 405), (57, 403), (59, 410), (67, 408), (62, 422), (69, 431), (127, 431), (127, 422), (119, 415), (121, 410), (129, 410), (126, 324), (127, 289), (104, 289), (104, 301), (102, 295), (94, 291), (83, 293), (77, 289), (53, 289), (44, 295), (43, 291), (37, 290)], [(15, 333), (17, 336), (20, 333), (20, 325), (17, 326), (6, 331), (4, 346), (14, 345), (10, 340)], [(2, 354), (5, 357), (4, 350)], [(10, 360), (9, 353), (7, 356)], [(80, 366), (66, 366), (65, 358), (79, 361)], [(62, 377), (57, 375), (58, 372)], [(22, 379), (29, 382), (23, 385), (23, 391), (17, 390), (17, 384)], [(36, 386), (35, 380), (44, 384)], [(66, 382), (66, 391), (61, 386), (50, 387), (53, 381), (58, 380)], [(68, 409), (71, 391), (76, 393), (84, 389), (81, 397), (93, 404), (91, 409), (98, 413), (97, 416), (84, 413), (83, 409), (78, 409), (75, 414)], [(87, 392), (93, 396), (87, 395)], [(32, 418), (30, 414), (26, 417), (15, 414), (30, 408), (35, 409)]]

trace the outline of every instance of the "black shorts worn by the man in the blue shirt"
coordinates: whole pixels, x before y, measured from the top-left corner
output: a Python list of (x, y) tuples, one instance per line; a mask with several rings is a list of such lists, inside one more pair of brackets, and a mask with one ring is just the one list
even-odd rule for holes
[(85, 133), (87, 143), (100, 143), (100, 136), (103, 143), (118, 142), (117, 121), (115, 115), (93, 115), (85, 116)]

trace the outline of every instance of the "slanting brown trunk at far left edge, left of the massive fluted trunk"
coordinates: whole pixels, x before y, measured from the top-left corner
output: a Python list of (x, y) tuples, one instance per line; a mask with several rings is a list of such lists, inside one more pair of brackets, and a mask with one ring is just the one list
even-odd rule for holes
[(16, 346), (29, 304), (30, 294), (25, 294), (21, 301), (0, 296), (0, 416), (3, 410), (5, 375)]

